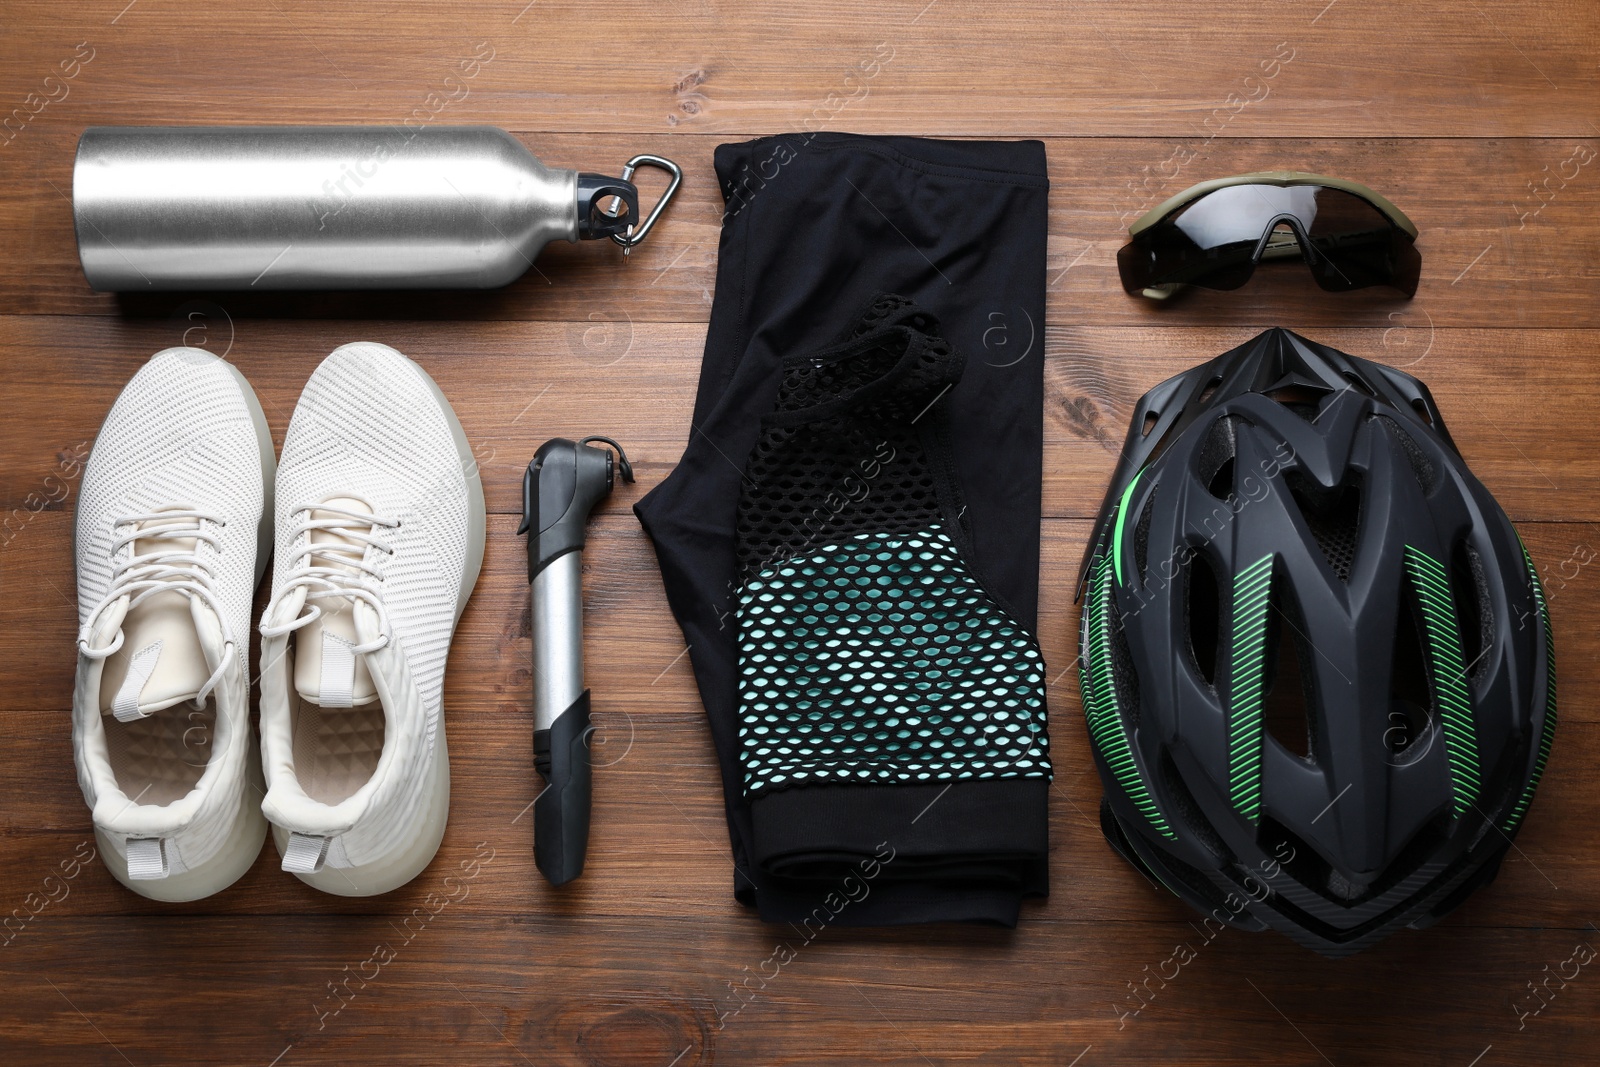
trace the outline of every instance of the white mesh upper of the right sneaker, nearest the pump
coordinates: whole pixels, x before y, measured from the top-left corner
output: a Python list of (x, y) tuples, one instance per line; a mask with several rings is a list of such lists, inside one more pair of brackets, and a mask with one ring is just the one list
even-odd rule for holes
[[(360, 865), (402, 848), (430, 803), (430, 766), (443, 758), (445, 661), (469, 555), (482, 558), (469, 475), (475, 480), (453, 416), (427, 374), (394, 349), (347, 344), (307, 381), (278, 462), (261, 728), (267, 817), (333, 838), (330, 865)], [(317, 509), (330, 501), (341, 512)], [(378, 525), (338, 518), (357, 502)], [(328, 563), (307, 553), (314, 534), (306, 526), (325, 515), (371, 537), (354, 557), (366, 571), (306, 579), (309, 568)], [(347, 595), (350, 589), (365, 592)], [(355, 640), (368, 646), (350, 653), (379, 694), (365, 710), (349, 709), (349, 694), (317, 704), (296, 691), (294, 656), (304, 651), (294, 643), (310, 630), (285, 627), (336, 611), (354, 617)], [(339, 651), (333, 645), (328, 648)]]

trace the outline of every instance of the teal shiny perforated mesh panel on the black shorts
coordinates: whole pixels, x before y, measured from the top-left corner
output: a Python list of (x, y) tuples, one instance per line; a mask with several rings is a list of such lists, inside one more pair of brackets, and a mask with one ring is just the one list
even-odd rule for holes
[(1050, 774), (1038, 643), (939, 528), (771, 561), (739, 590), (747, 793)]

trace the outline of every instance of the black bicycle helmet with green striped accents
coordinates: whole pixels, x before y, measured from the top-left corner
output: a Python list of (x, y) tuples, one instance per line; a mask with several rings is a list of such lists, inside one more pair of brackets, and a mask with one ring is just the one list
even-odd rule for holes
[(1555, 657), (1419, 381), (1269, 330), (1162, 382), (1078, 589), (1101, 827), (1184, 901), (1349, 955), (1494, 878)]

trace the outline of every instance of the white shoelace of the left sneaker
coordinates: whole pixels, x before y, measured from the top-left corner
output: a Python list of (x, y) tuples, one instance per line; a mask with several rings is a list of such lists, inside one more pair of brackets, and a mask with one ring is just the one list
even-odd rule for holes
[[(202, 542), (211, 545), (214, 552), (222, 550), (221, 541), (214, 533), (206, 530), (206, 523), (214, 526), (227, 525), (216, 515), (208, 515), (206, 512), (182, 506), (170, 510), (147, 512), (144, 515), (125, 515), (114, 522), (112, 533), (115, 534), (115, 539), (110, 545), (112, 558), (115, 558), (123, 549), (139, 541), (194, 541), (194, 547), (157, 549), (155, 552), (147, 552), (144, 555), (131, 553), (112, 569), (110, 590), (98, 605), (94, 605), (94, 609), (90, 611), (90, 617), (83, 624), (83, 629), (78, 630), (78, 651), (88, 659), (107, 659), (109, 656), (115, 656), (117, 649), (122, 648), (122, 629), (117, 629), (115, 640), (112, 640), (112, 643), (106, 648), (93, 648), (91, 640), (101, 616), (114, 603), (123, 597), (131, 597), (133, 600), (128, 601), (128, 611), (133, 611), (144, 600), (162, 592), (184, 593), (190, 598), (198, 597), (206, 603), (206, 606), (211, 608), (216, 614), (218, 624), (222, 627), (222, 657), (218, 661), (216, 670), (211, 672), (211, 677), (206, 678), (206, 683), (200, 686), (200, 693), (195, 694), (195, 707), (205, 707), (205, 701), (211, 694), (211, 689), (222, 681), (222, 673), (227, 670), (229, 664), (234, 662), (237, 654), (234, 633), (227, 625), (227, 613), (222, 609), (222, 600), (216, 592), (216, 573), (211, 569), (211, 563), (200, 558)], [(126, 617), (126, 614), (123, 617)]]

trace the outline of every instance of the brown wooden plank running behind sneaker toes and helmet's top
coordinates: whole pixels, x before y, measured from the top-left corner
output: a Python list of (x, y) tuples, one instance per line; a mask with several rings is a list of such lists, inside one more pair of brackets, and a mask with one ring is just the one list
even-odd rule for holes
[[(1266, 323), (1262, 323), (1266, 325)], [(1139, 395), (1261, 326), (1046, 326), (1045, 514), (1093, 517)], [(1586, 520), (1600, 493), (1600, 330), (1304, 328), (1354, 355), (1424, 378), (1474, 472), (1515, 520)], [(3, 510), (27, 510), (70, 450), (88, 446), (123, 382), (155, 350), (205, 344), (227, 352), (283, 440), (301, 386), (346, 341), (384, 341), (419, 360), (453, 398), (485, 470), (490, 509), (520, 504), (517, 472), (541, 442), (626, 434), (654, 485), (690, 437), (704, 326), (696, 323), (517, 323), (246, 320), (195, 301), (166, 318), (0, 317), (0, 366), (26, 418), (0, 424)], [(490, 387), (485, 387), (491, 382)], [(59, 493), (59, 490), (58, 490)], [(61, 501), (46, 506), (61, 507)], [(3, 563), (0, 563), (3, 565)]]

